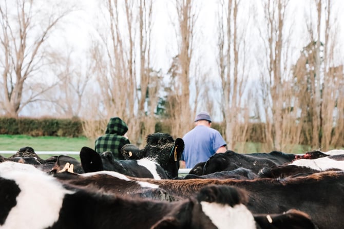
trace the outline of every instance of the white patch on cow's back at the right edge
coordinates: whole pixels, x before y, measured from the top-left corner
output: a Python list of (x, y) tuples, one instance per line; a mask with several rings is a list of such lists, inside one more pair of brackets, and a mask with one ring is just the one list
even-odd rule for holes
[(299, 159), (293, 161), (291, 165), (305, 166), (316, 170), (326, 170), (330, 168), (344, 170), (344, 161), (336, 161), (328, 157), (317, 159)]

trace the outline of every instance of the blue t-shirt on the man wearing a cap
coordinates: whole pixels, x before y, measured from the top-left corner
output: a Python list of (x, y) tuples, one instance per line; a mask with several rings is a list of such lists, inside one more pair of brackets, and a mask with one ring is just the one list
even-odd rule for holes
[(187, 132), (184, 137), (182, 160), (186, 168), (193, 168), (197, 163), (207, 161), (221, 146), (225, 146), (221, 134), (216, 129), (199, 125)]

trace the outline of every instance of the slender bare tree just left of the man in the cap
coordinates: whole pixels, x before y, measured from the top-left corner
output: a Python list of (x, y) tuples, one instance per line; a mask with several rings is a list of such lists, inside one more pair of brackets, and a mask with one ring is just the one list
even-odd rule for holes
[(173, 73), (174, 90), (170, 97), (170, 115), (174, 125), (173, 136), (183, 136), (185, 129), (189, 129), (192, 123), (190, 108), (190, 66), (194, 56), (195, 24), (197, 12), (193, 0), (175, 0), (178, 17), (176, 25), (178, 54), (175, 57), (170, 73)]

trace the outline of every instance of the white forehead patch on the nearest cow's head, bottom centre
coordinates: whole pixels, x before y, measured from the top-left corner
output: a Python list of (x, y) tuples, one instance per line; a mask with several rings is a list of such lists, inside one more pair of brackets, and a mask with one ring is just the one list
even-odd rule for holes
[(227, 204), (209, 203), (202, 201), (202, 211), (219, 229), (223, 228), (256, 228), (252, 213), (243, 204), (231, 207)]

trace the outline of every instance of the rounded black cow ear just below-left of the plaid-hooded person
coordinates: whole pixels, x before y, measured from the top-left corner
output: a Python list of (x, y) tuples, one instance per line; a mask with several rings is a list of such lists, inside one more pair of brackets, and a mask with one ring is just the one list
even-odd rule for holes
[(84, 146), (80, 150), (80, 161), (85, 173), (92, 173), (103, 170), (102, 158), (98, 152)]

